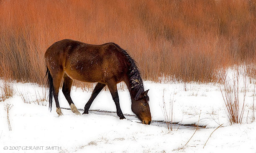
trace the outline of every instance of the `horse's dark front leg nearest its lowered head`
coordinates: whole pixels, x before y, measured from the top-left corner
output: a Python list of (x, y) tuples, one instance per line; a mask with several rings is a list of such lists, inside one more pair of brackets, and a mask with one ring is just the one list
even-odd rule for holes
[(118, 115), (118, 117), (120, 119), (125, 119), (124, 115), (123, 115), (123, 112), (120, 108), (120, 103), (119, 103), (119, 97), (118, 97), (118, 90), (117, 90), (117, 87), (116, 87), (116, 84), (115, 83), (108, 83), (108, 88), (110, 90), (110, 93), (112, 95), (112, 98), (115, 102), (115, 107), (116, 107), (116, 113)]

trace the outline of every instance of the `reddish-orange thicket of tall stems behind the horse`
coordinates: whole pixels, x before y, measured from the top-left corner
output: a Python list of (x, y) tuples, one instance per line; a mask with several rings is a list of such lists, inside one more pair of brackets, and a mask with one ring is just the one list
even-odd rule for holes
[(0, 77), (44, 84), (44, 53), (66, 38), (117, 43), (144, 80), (222, 82), (241, 63), (253, 76), (256, 1), (0, 0)]

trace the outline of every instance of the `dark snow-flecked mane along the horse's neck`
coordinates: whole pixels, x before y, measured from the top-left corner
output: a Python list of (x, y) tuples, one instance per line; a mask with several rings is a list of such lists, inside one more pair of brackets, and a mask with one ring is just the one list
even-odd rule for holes
[(117, 44), (115, 44), (115, 46), (120, 49), (120, 52), (123, 53), (128, 60), (128, 75), (131, 84), (130, 90), (136, 93), (135, 99), (138, 99), (140, 94), (144, 92), (144, 87), (143, 81), (141, 79), (141, 72), (137, 66), (137, 62), (133, 60), (133, 58), (131, 58), (131, 56), (126, 52), (126, 50), (123, 50)]

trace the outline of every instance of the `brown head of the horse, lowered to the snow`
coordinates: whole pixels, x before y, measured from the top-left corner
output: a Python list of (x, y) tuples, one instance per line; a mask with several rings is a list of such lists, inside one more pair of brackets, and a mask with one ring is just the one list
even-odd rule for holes
[(138, 118), (142, 121), (143, 124), (151, 123), (151, 113), (148, 105), (148, 90), (142, 92), (140, 96), (135, 99), (132, 103), (132, 111), (135, 113)]

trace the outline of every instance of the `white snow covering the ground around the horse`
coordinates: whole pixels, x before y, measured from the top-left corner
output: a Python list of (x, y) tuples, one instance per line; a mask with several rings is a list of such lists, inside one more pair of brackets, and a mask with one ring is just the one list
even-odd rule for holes
[[(256, 153), (256, 122), (252, 121), (254, 85), (249, 81), (243, 123), (235, 125), (228, 121), (218, 84), (145, 81), (152, 120), (166, 120), (165, 110), (168, 118), (173, 114), (172, 121), (179, 123), (173, 130), (168, 130), (165, 124), (143, 125), (138, 119), (119, 120), (114, 113), (91, 111), (87, 115), (75, 115), (62, 109), (64, 115), (58, 117), (55, 103), (49, 112), (44, 88), (31, 83), (14, 83), (13, 88), (14, 96), (0, 102), (0, 153)], [(80, 109), (90, 95), (91, 92), (80, 88), (73, 87), (71, 91), (74, 104)], [(242, 103), (243, 85), (239, 96)], [(128, 90), (119, 90), (119, 98), (123, 113), (133, 115)], [(59, 100), (62, 108), (69, 108), (61, 90)], [(4, 110), (6, 103), (13, 105), (9, 112), (11, 131)], [(173, 109), (169, 108), (170, 103)], [(115, 111), (110, 92), (102, 90), (90, 110)], [(193, 137), (196, 127), (180, 126), (197, 123), (200, 128)]]

